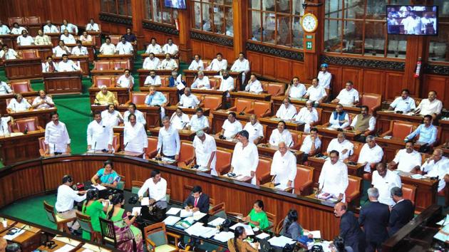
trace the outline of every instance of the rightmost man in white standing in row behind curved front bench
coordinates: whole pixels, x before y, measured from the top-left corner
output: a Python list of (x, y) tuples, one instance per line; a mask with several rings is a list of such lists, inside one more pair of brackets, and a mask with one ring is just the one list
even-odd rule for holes
[(339, 152), (331, 151), (329, 159), (324, 162), (318, 179), (318, 193), (332, 194), (341, 201), (345, 201), (345, 191), (348, 187), (348, 167), (339, 161)]

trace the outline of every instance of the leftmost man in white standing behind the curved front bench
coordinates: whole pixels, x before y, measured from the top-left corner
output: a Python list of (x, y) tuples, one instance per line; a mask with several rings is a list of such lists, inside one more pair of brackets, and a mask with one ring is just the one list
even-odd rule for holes
[(70, 137), (66, 124), (59, 122), (58, 112), (51, 112), (51, 122), (45, 127), (45, 154), (70, 153)]

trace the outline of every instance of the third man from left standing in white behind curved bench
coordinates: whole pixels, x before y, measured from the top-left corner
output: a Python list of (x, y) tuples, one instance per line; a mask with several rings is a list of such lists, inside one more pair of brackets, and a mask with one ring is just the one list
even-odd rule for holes
[(127, 152), (145, 153), (147, 151), (147, 132), (134, 114), (128, 115), (128, 123), (123, 129), (123, 144)]

